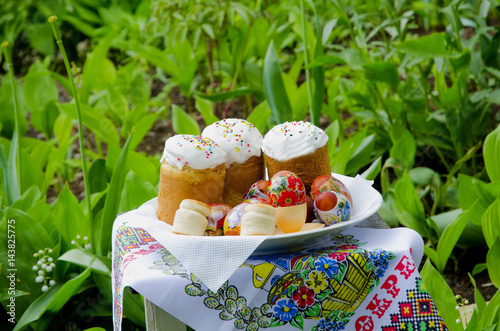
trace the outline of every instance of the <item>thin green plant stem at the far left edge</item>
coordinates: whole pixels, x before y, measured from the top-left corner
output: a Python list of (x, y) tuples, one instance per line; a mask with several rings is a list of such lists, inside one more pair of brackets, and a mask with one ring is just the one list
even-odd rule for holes
[[(11, 51), (10, 51), (10, 44), (9, 42), (3, 42), (2, 43), (2, 48), (3, 48), (3, 53), (5, 56), (5, 62), (7, 62), (7, 65), (9, 67), (9, 78), (10, 78), (10, 85), (12, 86), (12, 98), (14, 101), (14, 133), (12, 134), (12, 142), (16, 144), (15, 147), (15, 174), (11, 174), (15, 176), (15, 179), (17, 180), (17, 188), (19, 189), (18, 194), (21, 195), (22, 191), (22, 186), (21, 186), (21, 149), (20, 149), (20, 128), (19, 128), (19, 104), (17, 103), (17, 92), (16, 92), (16, 79), (14, 77), (14, 66), (12, 64), (12, 56), (11, 56)], [(5, 179), (7, 180), (7, 179)], [(17, 195), (17, 194), (16, 194)], [(17, 197), (12, 197), (12, 198), (19, 198)], [(12, 203), (14, 201), (10, 201)]]

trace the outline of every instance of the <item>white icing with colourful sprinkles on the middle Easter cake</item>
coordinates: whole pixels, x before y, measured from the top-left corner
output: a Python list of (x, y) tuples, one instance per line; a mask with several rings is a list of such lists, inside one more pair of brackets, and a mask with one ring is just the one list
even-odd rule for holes
[(252, 156), (260, 156), (262, 134), (242, 119), (228, 118), (207, 126), (202, 134), (221, 146), (227, 155), (226, 167), (244, 163)]

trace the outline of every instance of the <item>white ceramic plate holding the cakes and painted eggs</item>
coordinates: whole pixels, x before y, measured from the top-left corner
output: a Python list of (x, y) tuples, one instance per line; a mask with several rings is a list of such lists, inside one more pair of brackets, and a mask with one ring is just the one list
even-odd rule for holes
[[(332, 175), (340, 179), (347, 187), (349, 187), (350, 183), (354, 180), (353, 177), (338, 174)], [(316, 246), (330, 240), (333, 236), (350, 228), (351, 226), (364, 221), (368, 217), (375, 214), (382, 206), (383, 202), (382, 195), (373, 187), (368, 187), (367, 185), (365, 189), (369, 192), (365, 192), (366, 194), (363, 194), (363, 196), (360, 196), (360, 194), (356, 192), (351, 192), (353, 206), (357, 209), (348, 221), (315, 230), (270, 236), (266, 238), (259, 245), (259, 247), (257, 247), (253, 255), (293, 252), (311, 246)], [(365, 197), (367, 197), (368, 200), (366, 200)], [(359, 204), (356, 206), (356, 201), (363, 201), (362, 206), (359, 207)]]

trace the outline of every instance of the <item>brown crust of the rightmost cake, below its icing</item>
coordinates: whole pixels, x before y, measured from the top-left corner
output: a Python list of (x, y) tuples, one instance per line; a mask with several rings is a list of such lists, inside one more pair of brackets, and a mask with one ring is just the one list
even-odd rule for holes
[(331, 174), (328, 144), (318, 148), (311, 154), (286, 161), (277, 161), (265, 154), (264, 157), (269, 178), (281, 170), (291, 171), (299, 176), (307, 192), (311, 190), (311, 185), (316, 177)]

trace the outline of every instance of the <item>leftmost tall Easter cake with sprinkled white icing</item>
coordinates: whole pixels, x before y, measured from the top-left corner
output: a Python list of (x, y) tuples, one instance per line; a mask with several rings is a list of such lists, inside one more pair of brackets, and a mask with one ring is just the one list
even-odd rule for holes
[(165, 142), (160, 160), (158, 218), (173, 224), (184, 199), (220, 202), (226, 175), (226, 153), (213, 140), (195, 135), (175, 135)]

